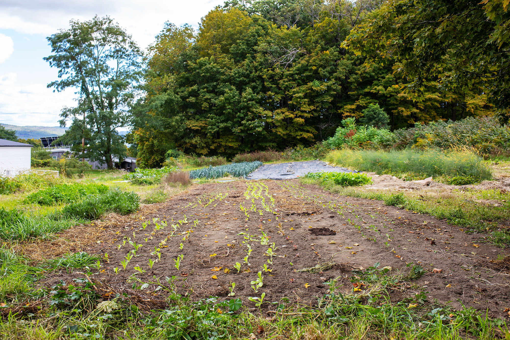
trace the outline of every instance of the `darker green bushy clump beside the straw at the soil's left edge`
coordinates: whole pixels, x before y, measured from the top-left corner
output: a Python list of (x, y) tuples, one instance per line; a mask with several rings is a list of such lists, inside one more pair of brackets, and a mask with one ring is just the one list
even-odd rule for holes
[(136, 211), (139, 206), (140, 196), (135, 192), (114, 188), (101, 195), (91, 195), (83, 201), (68, 204), (62, 209), (62, 213), (65, 216), (95, 220), (110, 212), (126, 215)]

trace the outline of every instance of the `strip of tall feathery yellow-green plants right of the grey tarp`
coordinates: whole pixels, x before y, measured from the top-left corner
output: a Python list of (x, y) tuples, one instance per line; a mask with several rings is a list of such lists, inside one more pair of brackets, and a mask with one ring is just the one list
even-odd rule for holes
[(326, 160), (336, 165), (377, 174), (415, 173), (424, 176), (472, 177), (477, 181), (492, 178), (491, 171), (483, 165), (482, 158), (465, 150), (399, 150), (384, 152), (379, 150), (332, 151)]

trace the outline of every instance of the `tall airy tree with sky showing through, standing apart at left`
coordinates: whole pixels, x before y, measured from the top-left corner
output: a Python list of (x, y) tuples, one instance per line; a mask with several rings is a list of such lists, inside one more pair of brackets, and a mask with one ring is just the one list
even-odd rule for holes
[(126, 156), (123, 137), (116, 129), (131, 122), (129, 110), (142, 74), (140, 49), (108, 16), (71, 20), (69, 29), (47, 40), (54, 54), (44, 60), (58, 68), (60, 78), (48, 88), (72, 87), (78, 95), (77, 106), (62, 109), (61, 126), (71, 120), (62, 140), (74, 142), (74, 150), (81, 149), (82, 157), (113, 168), (114, 156)]

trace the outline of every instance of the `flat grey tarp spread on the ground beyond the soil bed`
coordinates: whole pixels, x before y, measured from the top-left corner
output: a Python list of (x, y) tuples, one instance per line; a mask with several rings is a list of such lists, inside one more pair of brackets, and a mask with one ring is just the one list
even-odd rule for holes
[(330, 166), (326, 163), (314, 160), (314, 161), (303, 161), (303, 162), (288, 162), (288, 163), (277, 163), (277, 164), (264, 164), (259, 167), (256, 171), (249, 174), (246, 179), (259, 180), (259, 179), (295, 179), (304, 176), (308, 173), (318, 172), (339, 172), (339, 173), (351, 173), (351, 171), (345, 167)]

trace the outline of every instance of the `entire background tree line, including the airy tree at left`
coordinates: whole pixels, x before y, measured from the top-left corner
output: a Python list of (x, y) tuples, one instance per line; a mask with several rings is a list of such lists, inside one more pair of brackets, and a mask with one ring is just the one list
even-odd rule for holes
[[(170, 149), (231, 157), (312, 145), (374, 105), (391, 130), (504, 118), (507, 16), (502, 0), (228, 1), (198, 30), (167, 22), (144, 55), (95, 17), (48, 37), (61, 77), (48, 86), (78, 89), (64, 138), (109, 165), (128, 152), (155, 167)], [(120, 126), (133, 128), (129, 150)]]

